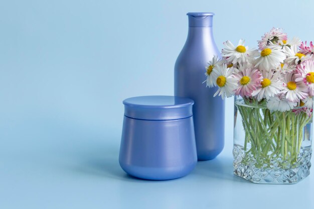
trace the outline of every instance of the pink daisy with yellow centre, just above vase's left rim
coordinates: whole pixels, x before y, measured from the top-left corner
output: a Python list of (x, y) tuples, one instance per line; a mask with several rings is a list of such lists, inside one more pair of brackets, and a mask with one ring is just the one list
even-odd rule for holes
[(235, 78), (238, 81), (238, 88), (235, 91), (235, 95), (250, 97), (252, 96), (252, 92), (260, 86), (262, 74), (257, 69), (247, 68), (236, 73)]

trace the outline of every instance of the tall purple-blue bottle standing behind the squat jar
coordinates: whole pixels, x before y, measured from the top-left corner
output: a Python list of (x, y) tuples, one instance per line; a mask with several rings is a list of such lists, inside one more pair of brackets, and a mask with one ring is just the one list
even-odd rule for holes
[(175, 65), (175, 96), (194, 100), (198, 160), (215, 158), (224, 147), (225, 101), (206, 88), (207, 62), (220, 53), (213, 37), (213, 13), (188, 13), (187, 41)]

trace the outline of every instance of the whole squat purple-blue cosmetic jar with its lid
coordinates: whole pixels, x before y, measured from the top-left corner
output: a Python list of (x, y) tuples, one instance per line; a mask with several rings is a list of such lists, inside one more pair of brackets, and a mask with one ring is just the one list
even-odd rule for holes
[(197, 163), (192, 106), (175, 96), (125, 99), (119, 163), (129, 175), (167, 180), (189, 174)]

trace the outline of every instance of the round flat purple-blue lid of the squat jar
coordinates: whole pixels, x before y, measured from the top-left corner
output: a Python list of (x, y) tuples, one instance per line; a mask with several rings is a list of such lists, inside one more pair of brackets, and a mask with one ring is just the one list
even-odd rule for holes
[(176, 120), (193, 115), (194, 101), (186, 97), (141, 96), (123, 101), (124, 115), (142, 120)]

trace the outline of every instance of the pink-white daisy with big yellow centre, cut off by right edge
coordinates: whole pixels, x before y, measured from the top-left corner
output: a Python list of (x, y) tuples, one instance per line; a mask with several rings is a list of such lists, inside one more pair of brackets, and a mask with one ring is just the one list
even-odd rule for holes
[(303, 82), (309, 89), (309, 95), (314, 96), (314, 60), (305, 60), (296, 67), (296, 82)]

